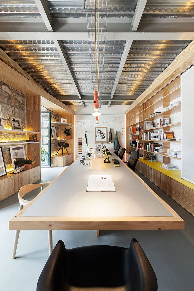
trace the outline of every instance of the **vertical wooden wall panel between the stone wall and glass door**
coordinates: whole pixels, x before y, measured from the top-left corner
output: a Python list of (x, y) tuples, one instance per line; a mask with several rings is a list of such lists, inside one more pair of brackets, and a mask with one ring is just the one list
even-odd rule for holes
[[(28, 131), (40, 132), (40, 95), (26, 96), (26, 126)], [(40, 133), (37, 133), (37, 141), (40, 141)], [(27, 145), (27, 157), (36, 157), (34, 166), (40, 166), (40, 143)]]

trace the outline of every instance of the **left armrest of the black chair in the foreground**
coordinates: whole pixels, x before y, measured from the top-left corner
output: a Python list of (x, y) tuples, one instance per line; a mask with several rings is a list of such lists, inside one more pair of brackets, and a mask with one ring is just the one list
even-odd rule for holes
[(40, 274), (37, 291), (64, 290), (64, 250), (64, 242), (58, 241)]

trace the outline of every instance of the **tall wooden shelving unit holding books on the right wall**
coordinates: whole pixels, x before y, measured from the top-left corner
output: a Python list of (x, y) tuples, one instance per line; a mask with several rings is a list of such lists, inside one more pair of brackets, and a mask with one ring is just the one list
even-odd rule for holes
[[(126, 114), (126, 152), (132, 151), (134, 149), (137, 149), (135, 146), (130, 146), (130, 141), (139, 141), (143, 142), (143, 149), (139, 148), (140, 155), (143, 155), (143, 159), (146, 159), (146, 153), (152, 153), (156, 156), (163, 157), (163, 163), (170, 163), (170, 159), (177, 159), (179, 158), (170, 157), (167, 154), (167, 149), (170, 148), (170, 143), (180, 143), (180, 141), (169, 141), (169, 140), (163, 140), (163, 141), (152, 141), (152, 140), (145, 140), (145, 139), (130, 139), (130, 134), (140, 134), (145, 132), (158, 132), (158, 131), (171, 131), (171, 127), (180, 127), (181, 123), (172, 123), (169, 125), (164, 125), (161, 127), (153, 127), (151, 129), (144, 129), (145, 121), (154, 121), (158, 118), (169, 117), (177, 112), (181, 111), (181, 105), (177, 105), (175, 107), (172, 107), (168, 110), (165, 110), (161, 113), (158, 113), (152, 117), (149, 117), (150, 114), (153, 114), (155, 111), (161, 111), (159, 110), (160, 107), (168, 107), (170, 103), (173, 103), (171, 101), (177, 99), (180, 97), (180, 76), (174, 79), (172, 82), (170, 82), (168, 85), (166, 85), (163, 89), (161, 89), (159, 92), (155, 93), (151, 97), (147, 98), (147, 101), (145, 101), (142, 104), (137, 104), (131, 111), (129, 111)], [(161, 109), (161, 108), (160, 108)], [(143, 130), (136, 131), (136, 132), (129, 132), (129, 127), (136, 126), (136, 128), (143, 123)], [(176, 137), (176, 136), (175, 136)], [(177, 136), (179, 138), (179, 136)], [(145, 143), (163, 143), (163, 153), (155, 153), (151, 151), (145, 150)]]

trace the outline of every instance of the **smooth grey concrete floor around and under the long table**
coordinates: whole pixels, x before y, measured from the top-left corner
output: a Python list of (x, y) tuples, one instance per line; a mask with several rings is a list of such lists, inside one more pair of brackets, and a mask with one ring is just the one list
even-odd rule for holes
[[(41, 181), (53, 180), (64, 168), (43, 168)], [(107, 230), (101, 231), (100, 237), (96, 237), (96, 231), (56, 230), (53, 231), (53, 244), (62, 239), (67, 249), (95, 244), (128, 247), (135, 237), (156, 273), (158, 291), (193, 291), (194, 217), (143, 175), (136, 173), (185, 220), (184, 230)], [(25, 198), (31, 200), (37, 194), (31, 192)], [(8, 230), (8, 221), (18, 209), (17, 194), (0, 203), (0, 290), (35, 291), (49, 256), (47, 231), (22, 230), (17, 257), (13, 260), (15, 231)]]

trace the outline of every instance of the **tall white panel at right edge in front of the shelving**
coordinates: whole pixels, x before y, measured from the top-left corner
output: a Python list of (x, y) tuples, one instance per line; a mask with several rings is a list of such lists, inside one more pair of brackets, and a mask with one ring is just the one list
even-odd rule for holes
[(181, 178), (194, 183), (194, 66), (181, 75)]

